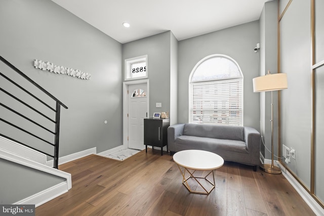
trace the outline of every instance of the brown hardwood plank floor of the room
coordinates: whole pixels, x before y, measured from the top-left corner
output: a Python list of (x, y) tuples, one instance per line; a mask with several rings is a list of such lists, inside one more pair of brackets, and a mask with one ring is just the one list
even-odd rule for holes
[(189, 193), (172, 157), (159, 150), (123, 162), (89, 155), (59, 169), (72, 175), (72, 189), (36, 215), (315, 215), (284, 176), (238, 163), (215, 171), (209, 195)]

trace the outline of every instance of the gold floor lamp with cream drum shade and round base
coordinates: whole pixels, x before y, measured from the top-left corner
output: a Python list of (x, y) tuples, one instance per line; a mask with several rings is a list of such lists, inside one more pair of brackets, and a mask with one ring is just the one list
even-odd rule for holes
[(265, 76), (259, 76), (253, 79), (253, 91), (254, 92), (271, 92), (271, 165), (262, 164), (260, 169), (270, 174), (280, 174), (281, 169), (273, 165), (273, 101), (272, 92), (287, 89), (287, 74), (275, 73), (271, 74), (268, 70), (268, 74)]

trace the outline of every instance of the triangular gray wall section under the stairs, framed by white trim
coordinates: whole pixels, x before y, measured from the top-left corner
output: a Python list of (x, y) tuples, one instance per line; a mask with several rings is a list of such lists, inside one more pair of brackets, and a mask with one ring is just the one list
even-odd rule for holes
[[(0, 158), (0, 204), (12, 204), (65, 181)], [(21, 181), (23, 180), (23, 181)]]

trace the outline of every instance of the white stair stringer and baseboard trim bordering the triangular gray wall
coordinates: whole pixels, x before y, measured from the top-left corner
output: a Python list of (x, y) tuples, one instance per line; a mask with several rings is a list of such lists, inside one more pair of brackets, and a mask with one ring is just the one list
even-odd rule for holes
[(12, 152), (3, 149), (2, 146), (0, 146), (0, 158), (66, 179), (66, 181), (63, 183), (48, 188), (37, 194), (31, 195), (30, 197), (27, 197), (23, 200), (16, 202), (15, 204), (34, 204), (37, 207), (47, 201), (50, 201), (66, 193), (68, 190), (72, 188), (71, 174), (67, 172), (21, 157), (17, 154), (13, 154)]

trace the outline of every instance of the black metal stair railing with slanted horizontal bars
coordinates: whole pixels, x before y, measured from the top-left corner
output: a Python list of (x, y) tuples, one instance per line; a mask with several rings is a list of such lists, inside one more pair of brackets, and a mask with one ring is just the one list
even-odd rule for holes
[[(17, 118), (18, 116), (20, 118), (23, 118), (27, 121), (29, 121), (30, 126), (35, 126), (35, 127), (39, 127), (41, 129), (43, 129), (45, 132), (47, 133), (51, 133), (54, 136), (54, 142), (50, 142), (44, 138), (42, 138), (40, 135), (35, 135), (34, 133), (31, 133), (30, 131), (27, 131), (27, 129), (24, 129), (23, 126), (21, 125), (17, 125), (15, 123), (13, 123), (13, 121), (8, 120), (8, 119), (4, 119), (2, 118), (2, 116), (0, 116), (0, 121), (3, 121), (4, 123), (10, 125), (12, 128), (18, 129), (21, 132), (25, 133), (26, 135), (31, 136), (32, 138), (38, 139), (38, 141), (42, 141), (44, 144), (46, 145), (51, 145), (54, 147), (53, 149), (53, 153), (47, 153), (46, 151), (42, 150), (42, 146), (40, 147), (32, 147), (32, 145), (30, 144), (26, 144), (23, 141), (18, 140), (18, 138), (14, 138), (14, 135), (5, 135), (3, 134), (2, 131), (0, 131), (0, 136), (7, 138), (9, 140), (12, 140), (16, 143), (19, 143), (23, 146), (26, 146), (30, 149), (33, 149), (35, 151), (41, 152), (47, 156), (53, 157), (54, 158), (54, 168), (58, 168), (58, 158), (59, 158), (59, 137), (60, 137), (60, 112), (61, 112), (61, 106), (64, 107), (65, 109), (67, 109), (67, 106), (65, 106), (62, 102), (60, 102), (58, 99), (56, 99), (53, 95), (51, 95), (49, 92), (47, 92), (45, 89), (43, 89), (40, 85), (38, 85), (36, 82), (34, 82), (33, 80), (31, 80), (28, 76), (26, 76), (23, 72), (21, 72), (19, 69), (17, 69), (14, 65), (12, 65), (10, 62), (8, 62), (6, 59), (4, 59), (2, 56), (0, 56), (0, 60), (5, 63), (8, 67), (10, 67), (14, 72), (18, 73), (21, 77), (23, 77), (25, 80), (29, 81), (32, 85), (34, 85), (34, 87), (36, 87), (39, 91), (43, 92), (45, 95), (47, 95), (50, 99), (52, 99), (55, 102), (55, 108), (53, 108), (51, 105), (49, 105), (48, 103), (44, 102), (42, 99), (38, 98), (35, 96), (35, 94), (30, 93), (28, 90), (26, 90), (25, 88), (23, 88), (20, 84), (18, 84), (17, 82), (13, 81), (11, 78), (9, 78), (8, 76), (6, 76), (4, 73), (2, 73), (0, 71), (0, 75), (7, 81), (9, 81), (9, 89), (13, 90), (19, 90), (20, 91), (20, 96), (23, 97), (24, 93), (25, 96), (29, 96), (29, 101), (31, 101), (30, 99), (34, 99), (34, 102), (38, 102), (41, 105), (44, 105), (46, 108), (48, 108), (50, 111), (53, 111), (55, 113), (55, 117), (54, 119), (51, 118), (50, 114), (44, 113), (44, 111), (40, 111), (40, 108), (38, 106), (37, 107), (33, 107), (32, 105), (29, 105), (27, 102), (24, 101), (24, 99), (21, 97), (17, 97), (15, 96), (13, 93), (10, 93), (9, 91), (3, 89), (3, 86), (6, 86), (5, 82), (4, 85), (1, 85), (0, 87), (0, 91), (3, 92), (4, 94), (6, 94), (9, 99), (7, 99), (6, 101), (8, 102), (8, 104), (4, 104), (2, 101), (0, 102), (0, 105), (9, 110), (10, 112), (12, 112), (12, 114), (16, 115), (13, 118)], [(12, 71), (12, 72), (13, 72)], [(3, 82), (3, 81), (2, 81)], [(10, 86), (11, 85), (11, 86)], [(8, 86), (8, 85), (7, 85)], [(13, 87), (14, 88), (10, 88)], [(31, 98), (30, 98), (31, 97)], [(20, 103), (20, 106), (23, 106), (25, 109), (21, 109), (21, 110), (16, 110), (13, 106), (15, 106), (15, 104), (17, 105), (17, 103), (13, 102), (12, 100), (10, 100), (10, 98), (12, 100), (16, 100), (16, 102)], [(19, 105), (18, 103), (18, 105)], [(11, 106), (9, 105), (11, 104)], [(46, 126), (43, 126), (40, 123), (37, 123), (35, 120), (31, 119), (31, 117), (27, 117), (23, 112), (29, 109), (32, 112), (34, 112), (35, 114), (38, 114), (39, 116), (42, 116), (45, 120), (51, 121), (54, 124), (54, 131), (51, 128), (48, 128)], [(44, 110), (44, 108), (43, 108)], [(27, 112), (26, 112), (27, 113)], [(12, 115), (11, 115), (12, 116)], [(31, 116), (33, 116), (31, 114)], [(43, 120), (44, 120), (43, 119)], [(44, 132), (41, 132), (41, 134), (43, 134)], [(11, 133), (12, 134), (12, 133)], [(15, 134), (16, 135), (16, 134)]]

